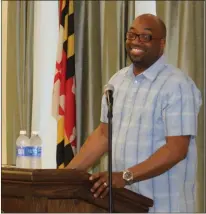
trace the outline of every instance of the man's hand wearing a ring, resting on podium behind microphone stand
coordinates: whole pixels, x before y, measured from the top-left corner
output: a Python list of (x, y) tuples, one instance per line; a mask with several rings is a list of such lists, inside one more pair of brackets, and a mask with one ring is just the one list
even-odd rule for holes
[[(94, 194), (95, 198), (104, 198), (108, 192), (108, 181), (109, 175), (108, 172), (98, 172), (90, 176), (90, 181), (96, 180), (91, 192)], [(122, 178), (122, 172), (113, 172), (112, 173), (112, 187), (113, 188), (123, 188), (126, 185), (125, 180)]]

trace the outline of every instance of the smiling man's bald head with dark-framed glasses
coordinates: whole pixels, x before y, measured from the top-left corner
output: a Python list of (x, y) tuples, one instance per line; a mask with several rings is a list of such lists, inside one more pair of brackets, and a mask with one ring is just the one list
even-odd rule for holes
[(166, 27), (152, 14), (138, 16), (131, 25), (126, 40), (126, 50), (134, 66), (148, 68), (164, 52)]

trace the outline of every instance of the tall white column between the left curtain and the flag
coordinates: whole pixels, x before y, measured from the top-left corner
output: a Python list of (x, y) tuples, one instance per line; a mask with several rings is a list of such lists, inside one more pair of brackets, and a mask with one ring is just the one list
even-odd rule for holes
[(32, 130), (42, 138), (42, 167), (56, 168), (57, 123), (51, 116), (58, 43), (58, 1), (35, 1)]

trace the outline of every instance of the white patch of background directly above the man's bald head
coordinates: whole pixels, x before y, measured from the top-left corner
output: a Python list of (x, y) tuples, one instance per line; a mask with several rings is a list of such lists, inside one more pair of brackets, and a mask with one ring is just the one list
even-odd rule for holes
[(144, 13), (156, 15), (156, 1), (135, 1), (135, 17)]

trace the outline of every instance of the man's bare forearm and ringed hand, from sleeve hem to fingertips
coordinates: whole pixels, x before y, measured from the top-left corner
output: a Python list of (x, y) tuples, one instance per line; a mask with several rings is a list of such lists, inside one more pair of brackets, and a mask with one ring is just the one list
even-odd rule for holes
[[(186, 157), (189, 142), (190, 136), (166, 137), (166, 144), (164, 146), (160, 147), (147, 160), (129, 168), (129, 171), (133, 173), (133, 182), (156, 177), (171, 169)], [(113, 172), (112, 186), (114, 188), (123, 188), (126, 185), (122, 175), (122, 172)], [(103, 198), (109, 191), (107, 186), (104, 185), (105, 182), (108, 183), (108, 173), (100, 172), (90, 176), (90, 180), (97, 178), (98, 180), (93, 185), (91, 192), (93, 192), (95, 198)]]

